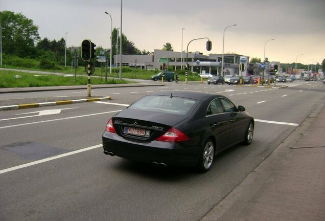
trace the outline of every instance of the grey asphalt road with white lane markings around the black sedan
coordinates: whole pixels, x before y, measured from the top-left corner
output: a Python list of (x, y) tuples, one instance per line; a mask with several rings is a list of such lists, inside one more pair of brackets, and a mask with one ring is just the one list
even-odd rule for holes
[[(112, 100), (2, 111), (0, 220), (200, 220), (325, 100), (321, 82), (287, 85), (266, 89), (167, 83), (96, 89), (92, 94)], [(204, 174), (103, 154), (101, 135), (110, 117), (144, 95), (175, 89), (221, 93), (245, 106), (256, 119), (252, 144), (219, 154)], [(14, 96), (76, 94), (87, 92)], [(2, 94), (2, 99), (11, 95)]]

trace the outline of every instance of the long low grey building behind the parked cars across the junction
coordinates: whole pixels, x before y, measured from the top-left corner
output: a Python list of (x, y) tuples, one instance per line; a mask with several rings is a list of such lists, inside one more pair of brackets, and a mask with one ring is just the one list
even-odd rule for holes
[[(224, 74), (223, 75), (247, 75), (247, 68), (243, 72), (239, 70), (239, 64), (244, 63), (248, 67), (248, 56), (238, 54), (224, 54)], [(158, 69), (162, 70), (162, 62), (167, 61), (168, 67), (175, 71), (189, 63), (191, 71), (197, 73), (211, 73), (214, 75), (221, 74), (222, 54), (203, 55), (200, 52), (185, 53), (164, 51), (155, 49), (154, 53), (149, 55), (122, 55), (122, 66), (132, 68), (141, 68), (145, 70)], [(114, 61), (120, 64), (120, 55), (114, 55)]]

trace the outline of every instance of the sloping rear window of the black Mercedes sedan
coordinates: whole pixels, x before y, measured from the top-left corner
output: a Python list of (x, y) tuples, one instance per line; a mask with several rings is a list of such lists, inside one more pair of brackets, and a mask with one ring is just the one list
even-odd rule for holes
[(136, 101), (129, 109), (138, 109), (175, 115), (187, 115), (196, 100), (175, 96), (150, 95)]

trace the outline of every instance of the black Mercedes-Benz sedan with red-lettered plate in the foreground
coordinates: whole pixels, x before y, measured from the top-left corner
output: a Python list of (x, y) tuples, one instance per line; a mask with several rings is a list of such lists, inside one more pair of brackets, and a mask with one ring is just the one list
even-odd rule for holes
[(209, 170), (222, 150), (252, 142), (254, 119), (243, 106), (204, 92), (161, 91), (109, 119), (104, 153), (160, 166)]

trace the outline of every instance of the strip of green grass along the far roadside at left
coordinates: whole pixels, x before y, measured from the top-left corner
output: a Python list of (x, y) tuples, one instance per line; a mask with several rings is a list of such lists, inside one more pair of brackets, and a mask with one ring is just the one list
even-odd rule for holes
[[(20, 76), (17, 78), (15, 76)], [(32, 74), (16, 71), (0, 70), (0, 88), (9, 87), (40, 87), (40, 86), (68, 86), (68, 85), (86, 85), (88, 82), (87, 76), (64, 77), (54, 74)], [(131, 83), (126, 80), (107, 79), (90, 77), (91, 84), (120, 84)]]

